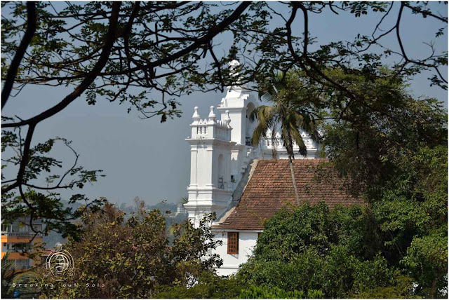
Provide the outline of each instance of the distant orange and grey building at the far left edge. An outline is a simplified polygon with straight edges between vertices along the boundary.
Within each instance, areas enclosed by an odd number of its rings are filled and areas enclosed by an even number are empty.
[[[35,231],[42,231],[42,221],[35,220],[32,226]],[[14,261],[16,270],[34,266],[34,261],[28,257],[28,253],[33,251],[34,246],[42,243],[42,234],[32,231],[29,218],[16,219],[11,223],[1,222],[1,259],[4,259],[8,252],[8,260]]]

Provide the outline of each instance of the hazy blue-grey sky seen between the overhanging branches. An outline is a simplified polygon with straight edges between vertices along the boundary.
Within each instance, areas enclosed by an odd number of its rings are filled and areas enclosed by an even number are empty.
[[[285,8],[274,3],[272,5],[286,12]],[[447,6],[432,5],[439,7],[441,15],[447,16]],[[310,15],[309,31],[317,37],[318,43],[349,41],[357,33],[371,34],[378,16],[368,13],[367,16],[354,18],[349,14],[337,16],[326,11],[321,15]],[[387,20],[386,24],[394,22],[393,18]],[[273,26],[281,25],[279,20],[273,21]],[[296,32],[302,32],[301,18],[297,18],[293,25]],[[423,20],[418,15],[403,16],[401,34],[410,57],[422,57],[429,52],[422,42],[434,39],[438,25],[440,23],[431,18]],[[229,35],[219,38],[214,43],[222,43],[220,47],[229,48],[232,43]],[[438,51],[447,51],[447,39],[446,28],[445,36],[436,43]],[[386,39],[385,43],[398,48],[394,39]],[[447,70],[444,73],[447,74]],[[411,92],[417,97],[436,97],[447,104],[447,92],[438,87],[429,87],[427,77],[428,74],[417,76],[411,82]],[[71,88],[28,86],[8,101],[2,114],[27,118],[59,102],[70,91]],[[95,106],[89,106],[82,96],[64,111],[39,123],[33,144],[50,137],[65,137],[73,141],[72,146],[81,155],[81,165],[88,170],[105,170],[105,178],[81,191],[90,198],[104,196],[113,203],[132,203],[133,198],[139,196],[147,203],[157,203],[163,199],[177,202],[187,196],[190,161],[189,145],[185,138],[190,135],[193,107],[199,106],[201,117],[205,118],[208,107],[216,107],[224,96],[225,93],[194,93],[182,97],[179,101],[184,114],[166,123],[159,123],[159,118],[141,120],[137,113],[127,114],[127,107],[109,103],[105,99],[98,99]],[[53,152],[53,156],[72,163],[73,157],[68,154],[61,147],[56,147]]]

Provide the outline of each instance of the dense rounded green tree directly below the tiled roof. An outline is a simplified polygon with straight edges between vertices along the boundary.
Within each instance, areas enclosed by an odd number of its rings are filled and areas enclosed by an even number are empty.
[[[369,220],[366,207],[329,210],[321,203],[282,210],[267,221],[238,277],[287,292],[321,290],[326,298],[391,285],[398,271],[364,251],[373,238]]]

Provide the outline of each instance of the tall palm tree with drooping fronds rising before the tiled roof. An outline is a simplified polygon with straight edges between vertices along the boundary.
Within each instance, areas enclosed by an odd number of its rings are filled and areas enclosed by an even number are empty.
[[[293,170],[293,142],[299,147],[299,153],[307,156],[307,147],[304,145],[300,130],[307,132],[314,141],[318,140],[316,123],[310,108],[316,101],[308,97],[297,73],[276,74],[272,82],[266,88],[261,88],[259,95],[261,100],[272,102],[272,106],[262,105],[251,114],[250,119],[259,121],[253,132],[253,146],[260,144],[267,138],[267,131],[272,132],[272,144],[279,144],[279,140],[287,150],[290,162],[293,188],[297,205],[300,204],[300,196],[297,191],[295,172]],[[280,134],[280,138],[276,137]],[[276,158],[276,149],[273,147],[273,158]]]

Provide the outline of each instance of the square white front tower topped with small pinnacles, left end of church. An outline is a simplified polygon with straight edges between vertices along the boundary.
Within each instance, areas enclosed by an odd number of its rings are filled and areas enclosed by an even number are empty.
[[[198,107],[194,108],[192,136],[186,139],[191,155],[189,201],[184,206],[195,226],[206,213],[225,212],[232,200],[230,161],[236,143],[231,140],[231,118],[225,111],[222,121],[217,121],[213,109],[208,119],[201,120]]]

